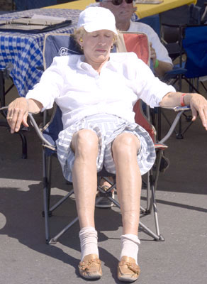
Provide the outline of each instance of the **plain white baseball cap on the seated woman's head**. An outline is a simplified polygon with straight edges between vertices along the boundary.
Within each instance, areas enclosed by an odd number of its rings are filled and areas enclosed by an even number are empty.
[[[89,7],[79,14],[77,28],[84,29],[91,33],[93,31],[108,30],[118,34],[116,31],[116,21],[113,13],[102,7]]]

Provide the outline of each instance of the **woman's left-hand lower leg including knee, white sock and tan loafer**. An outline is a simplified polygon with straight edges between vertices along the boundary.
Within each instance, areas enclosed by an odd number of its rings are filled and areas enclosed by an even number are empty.
[[[94,131],[82,129],[72,137],[72,150],[75,154],[72,182],[81,228],[79,239],[82,258],[79,273],[87,279],[97,279],[102,275],[98,236],[94,224],[98,146],[99,139]]]

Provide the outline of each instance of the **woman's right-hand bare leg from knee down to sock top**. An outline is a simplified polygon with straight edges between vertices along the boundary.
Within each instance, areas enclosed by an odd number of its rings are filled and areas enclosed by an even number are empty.
[[[141,175],[137,161],[140,141],[131,133],[122,133],[113,141],[116,185],[121,205],[123,234],[138,235],[140,219]]]

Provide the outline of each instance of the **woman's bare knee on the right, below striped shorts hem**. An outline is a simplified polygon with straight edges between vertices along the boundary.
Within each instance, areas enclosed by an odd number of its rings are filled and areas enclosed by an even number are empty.
[[[133,133],[121,133],[113,141],[113,155],[137,155],[140,141]]]

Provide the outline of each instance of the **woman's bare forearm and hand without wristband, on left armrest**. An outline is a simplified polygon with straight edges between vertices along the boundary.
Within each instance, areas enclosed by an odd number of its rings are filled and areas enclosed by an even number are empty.
[[[7,121],[11,128],[11,133],[17,132],[21,124],[28,127],[28,112],[38,113],[43,105],[35,99],[18,98],[9,104]]]

